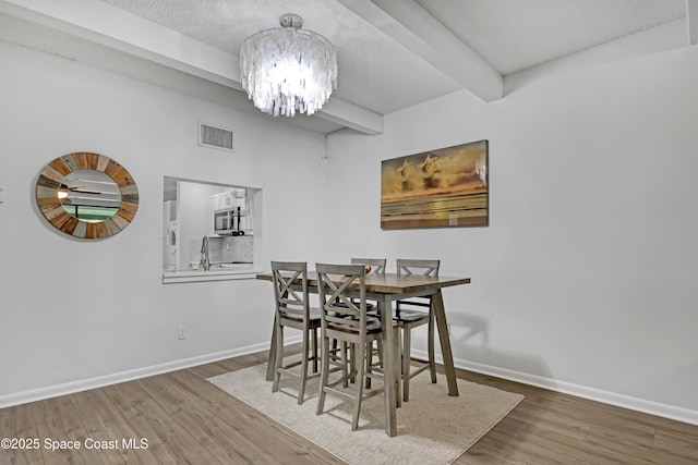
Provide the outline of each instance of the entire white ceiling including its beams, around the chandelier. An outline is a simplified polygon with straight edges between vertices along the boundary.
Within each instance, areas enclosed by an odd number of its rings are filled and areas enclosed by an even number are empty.
[[[686,22],[688,46],[697,2],[0,0],[0,40],[258,113],[240,90],[240,46],[296,13],[337,48],[338,85],[316,115],[277,119],[375,134],[384,114],[461,89],[494,101],[513,73],[667,23]]]

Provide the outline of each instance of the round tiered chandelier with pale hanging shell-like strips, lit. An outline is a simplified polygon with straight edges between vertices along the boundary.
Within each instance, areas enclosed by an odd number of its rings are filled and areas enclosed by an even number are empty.
[[[337,51],[323,36],[301,29],[300,16],[285,14],[280,23],[242,44],[242,88],[267,114],[313,114],[337,88]]]

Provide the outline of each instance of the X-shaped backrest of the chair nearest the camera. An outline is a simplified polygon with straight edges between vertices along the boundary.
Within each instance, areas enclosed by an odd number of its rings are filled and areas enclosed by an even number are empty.
[[[315,264],[324,338],[346,340],[347,333],[366,332],[366,270],[359,265]],[[359,285],[359,298],[348,295]]]

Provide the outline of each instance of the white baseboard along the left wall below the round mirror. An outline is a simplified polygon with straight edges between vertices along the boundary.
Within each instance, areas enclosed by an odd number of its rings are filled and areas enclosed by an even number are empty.
[[[299,339],[300,340],[300,339]],[[293,342],[289,338],[289,342]],[[230,351],[216,352],[213,354],[201,355],[197,357],[184,358],[181,360],[168,362],[166,364],[154,365],[149,367],[136,368],[134,370],[121,371],[112,375],[105,375],[96,378],[71,381],[62,384],[49,386],[40,389],[17,392],[14,394],[0,395],[0,408],[11,407],[13,405],[26,404],[45,399],[57,397],[59,395],[73,394],[75,392],[87,391],[89,389],[103,388],[105,386],[117,384],[119,382],[132,381],[134,379],[147,378],[149,376],[161,375],[169,371],[176,371],[184,368],[191,368],[198,365],[209,364],[212,362],[224,360],[226,358],[239,357],[241,355],[253,354],[266,351],[269,343],[249,345],[246,347],[233,348]]]

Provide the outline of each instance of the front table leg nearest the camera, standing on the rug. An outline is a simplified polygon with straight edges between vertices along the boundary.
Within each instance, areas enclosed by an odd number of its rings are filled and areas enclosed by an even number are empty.
[[[397,436],[396,409],[396,379],[399,376],[399,354],[395,350],[395,336],[393,334],[393,305],[388,295],[378,299],[378,313],[383,326],[383,376],[384,376],[384,402],[385,402],[385,432],[389,437]]]

